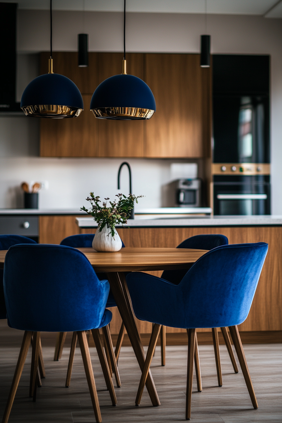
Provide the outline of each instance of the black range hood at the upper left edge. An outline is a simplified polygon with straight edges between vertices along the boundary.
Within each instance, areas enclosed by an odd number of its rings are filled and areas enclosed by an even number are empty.
[[[0,113],[22,112],[16,102],[17,3],[0,3]]]

